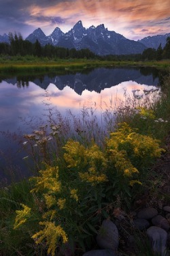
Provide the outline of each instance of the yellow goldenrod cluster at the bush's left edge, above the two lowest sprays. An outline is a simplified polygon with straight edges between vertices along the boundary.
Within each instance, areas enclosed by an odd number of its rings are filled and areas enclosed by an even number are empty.
[[[48,189],[48,193],[57,193],[61,190],[61,182],[58,181],[58,167],[47,167],[43,171],[39,171],[38,177],[31,177],[30,180],[35,181],[35,188],[31,192]]]

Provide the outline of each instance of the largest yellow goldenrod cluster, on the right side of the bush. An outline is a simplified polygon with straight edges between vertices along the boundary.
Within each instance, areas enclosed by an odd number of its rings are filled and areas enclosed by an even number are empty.
[[[126,123],[122,123],[116,132],[111,133],[111,138],[107,139],[107,150],[114,167],[126,177],[132,177],[133,173],[139,173],[131,163],[132,158],[160,157],[161,152],[164,151],[159,147],[158,140],[137,133],[136,129],[133,130]]]

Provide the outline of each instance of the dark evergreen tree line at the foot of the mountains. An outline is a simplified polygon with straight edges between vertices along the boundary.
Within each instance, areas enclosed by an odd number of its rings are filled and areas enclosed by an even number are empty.
[[[75,48],[64,48],[53,46],[52,44],[46,44],[41,46],[38,40],[35,43],[29,42],[28,40],[23,40],[20,33],[9,33],[10,43],[1,42],[0,43],[0,55],[10,55],[10,56],[25,56],[32,55],[36,57],[49,57],[49,58],[59,58],[59,59],[100,59],[100,60],[161,60],[170,59],[170,38],[167,38],[167,43],[165,47],[162,48],[161,44],[158,46],[157,50],[154,48],[147,48],[142,54],[132,54],[132,55],[106,55],[99,56],[92,53],[88,48],[81,49],[79,51]]]

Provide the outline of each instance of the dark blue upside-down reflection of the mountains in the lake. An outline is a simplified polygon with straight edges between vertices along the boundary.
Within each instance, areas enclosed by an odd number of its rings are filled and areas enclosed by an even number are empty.
[[[86,71],[86,72],[85,72]],[[135,81],[140,84],[158,85],[158,70],[154,68],[96,68],[84,70],[84,72],[69,72],[66,74],[51,73],[48,75],[16,76],[3,79],[7,83],[16,85],[18,88],[29,87],[33,82],[42,89],[47,89],[50,83],[60,90],[66,86],[72,88],[76,94],[82,95],[86,89],[101,93],[105,88],[118,85],[124,81]]]

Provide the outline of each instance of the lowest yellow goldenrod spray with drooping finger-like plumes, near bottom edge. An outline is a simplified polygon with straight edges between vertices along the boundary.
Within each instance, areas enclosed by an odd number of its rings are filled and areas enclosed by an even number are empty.
[[[49,221],[41,222],[39,225],[44,225],[45,227],[41,231],[35,233],[32,238],[35,239],[36,244],[41,243],[45,239],[46,244],[48,245],[48,254],[54,256],[59,240],[62,238],[63,243],[67,242],[67,234],[61,225],[56,226],[55,223]]]

